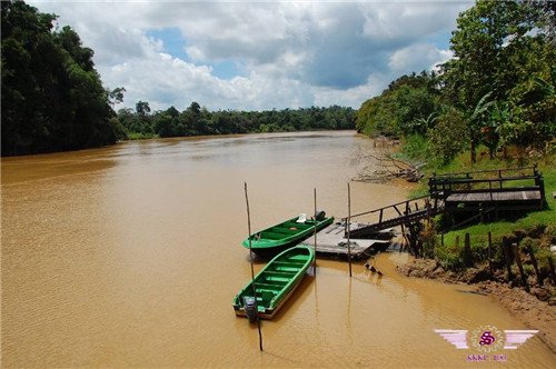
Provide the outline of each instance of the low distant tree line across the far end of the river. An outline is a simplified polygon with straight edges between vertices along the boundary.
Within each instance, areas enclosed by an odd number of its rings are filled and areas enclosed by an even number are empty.
[[[290,132],[304,130],[354,129],[355,110],[332,106],[267,111],[208,111],[198,102],[179,111],[175,107],[151,113],[148,102],[139,101],[136,110],[120,109],[112,123],[120,139],[183,137],[251,132]]]

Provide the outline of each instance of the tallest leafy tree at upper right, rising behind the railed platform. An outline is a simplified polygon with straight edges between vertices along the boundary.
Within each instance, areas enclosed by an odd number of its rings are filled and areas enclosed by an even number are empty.
[[[488,132],[483,138],[493,154],[497,140],[487,110],[494,101],[507,110],[497,118],[503,142],[543,146],[554,137],[554,101],[535,84],[548,77],[556,58],[547,37],[554,30],[548,13],[554,13],[553,6],[533,1],[479,0],[458,17],[450,40],[455,58],[443,66],[440,80],[443,96],[468,117],[471,161],[479,132]],[[490,102],[484,100],[487,94]]]

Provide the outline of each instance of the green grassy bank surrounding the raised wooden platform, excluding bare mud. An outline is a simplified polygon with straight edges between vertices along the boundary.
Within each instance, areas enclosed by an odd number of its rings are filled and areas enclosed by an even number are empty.
[[[400,157],[406,160],[421,161],[425,158],[430,158],[427,154],[426,142],[419,138],[409,138],[405,142],[400,152]],[[524,215],[518,219],[500,220],[489,223],[476,223],[469,227],[457,230],[443,230],[438,226],[441,223],[440,217],[437,217],[434,225],[434,230],[426,232],[424,239],[425,247],[434,248],[435,259],[446,270],[465,269],[464,260],[464,238],[469,233],[471,251],[475,265],[487,260],[488,233],[492,235],[494,246],[495,263],[502,266],[504,256],[502,251],[503,237],[509,238],[513,242],[517,242],[522,250],[526,245],[530,245],[539,261],[544,272],[549,272],[547,258],[550,255],[550,245],[556,245],[556,199],[553,193],[556,192],[556,154],[547,154],[544,157],[517,157],[515,153],[505,159],[502,153],[494,159],[489,159],[488,150],[479,148],[477,151],[477,162],[470,162],[469,152],[458,154],[453,161],[446,164],[430,160],[424,167],[425,177],[420,181],[419,187],[413,191],[411,197],[418,197],[428,193],[427,179],[435,173],[461,172],[461,171],[478,171],[478,170],[495,170],[500,168],[516,168],[523,166],[537,164],[545,181],[545,193],[548,207],[543,211],[535,211]],[[440,233],[444,233],[444,245],[440,242]],[[527,260],[529,257],[527,256]],[[526,265],[526,271],[530,271],[532,267]]]

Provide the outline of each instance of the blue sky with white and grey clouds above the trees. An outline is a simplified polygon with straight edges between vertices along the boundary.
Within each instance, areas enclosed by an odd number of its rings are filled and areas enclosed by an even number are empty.
[[[470,1],[28,1],[70,26],[117,109],[358,109],[453,57]]]

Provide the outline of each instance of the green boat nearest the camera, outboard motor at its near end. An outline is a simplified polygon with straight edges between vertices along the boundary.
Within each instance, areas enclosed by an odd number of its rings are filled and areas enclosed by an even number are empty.
[[[234,298],[237,316],[255,321],[271,319],[304,279],[315,260],[315,251],[307,246],[297,246],[277,255]],[[254,293],[255,292],[255,293]]]

